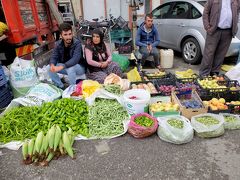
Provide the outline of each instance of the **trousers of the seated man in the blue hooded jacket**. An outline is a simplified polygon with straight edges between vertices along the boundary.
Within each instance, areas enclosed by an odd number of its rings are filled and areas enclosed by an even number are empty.
[[[145,61],[149,56],[153,56],[155,67],[160,65],[159,50],[156,47],[153,47],[150,53],[147,47],[140,47],[139,52],[142,54],[142,60],[141,60],[142,66],[145,64]]]

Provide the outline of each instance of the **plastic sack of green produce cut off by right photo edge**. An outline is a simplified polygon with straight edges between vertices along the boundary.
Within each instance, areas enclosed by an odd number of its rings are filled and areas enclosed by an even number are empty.
[[[229,113],[220,113],[224,118],[224,129],[240,129],[240,117]]]

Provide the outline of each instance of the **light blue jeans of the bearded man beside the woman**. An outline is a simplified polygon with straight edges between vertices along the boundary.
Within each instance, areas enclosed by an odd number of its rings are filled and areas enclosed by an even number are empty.
[[[61,63],[58,63],[56,66],[61,66],[63,64]],[[77,75],[82,75],[85,73],[85,68],[79,64],[76,64],[72,67],[69,67],[69,68],[66,68],[66,69],[63,69],[57,73],[60,73],[60,74],[66,74],[68,75],[68,79],[69,79],[69,82],[70,82],[70,85],[74,85],[76,84],[76,80],[77,80]],[[60,79],[60,77],[58,76],[57,73],[54,73],[54,72],[51,72],[50,71],[50,66],[48,66],[48,74],[49,74],[49,77],[52,79],[53,83],[59,87],[59,88],[63,88],[63,83]]]

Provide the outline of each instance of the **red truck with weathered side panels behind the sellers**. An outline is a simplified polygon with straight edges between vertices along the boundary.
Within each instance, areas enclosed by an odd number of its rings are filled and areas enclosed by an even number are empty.
[[[52,3],[57,9],[57,0]],[[15,48],[17,56],[32,58],[52,49],[58,23],[46,0],[1,0],[1,10],[0,21],[5,21],[9,29],[5,43]]]

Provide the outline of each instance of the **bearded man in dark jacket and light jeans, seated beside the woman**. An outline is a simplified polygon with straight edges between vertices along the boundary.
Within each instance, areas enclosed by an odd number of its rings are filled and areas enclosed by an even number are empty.
[[[61,40],[56,42],[53,49],[48,74],[56,86],[63,88],[64,85],[57,73],[68,75],[69,82],[73,85],[76,84],[77,75],[85,73],[85,67],[82,45],[78,39],[73,38],[72,26],[62,23],[59,31]]]

